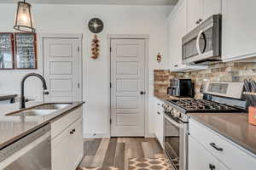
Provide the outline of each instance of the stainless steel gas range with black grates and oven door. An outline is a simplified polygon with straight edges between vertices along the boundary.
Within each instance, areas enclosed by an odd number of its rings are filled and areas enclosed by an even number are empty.
[[[181,98],[167,100],[163,105],[164,146],[166,155],[176,170],[186,170],[188,164],[188,113],[241,112],[246,101],[241,100],[243,83],[207,82],[203,99]]]

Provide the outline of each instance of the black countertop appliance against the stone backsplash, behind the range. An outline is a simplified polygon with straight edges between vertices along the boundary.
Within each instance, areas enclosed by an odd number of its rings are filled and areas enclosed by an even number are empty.
[[[191,79],[171,79],[167,94],[177,97],[194,97],[194,84]]]

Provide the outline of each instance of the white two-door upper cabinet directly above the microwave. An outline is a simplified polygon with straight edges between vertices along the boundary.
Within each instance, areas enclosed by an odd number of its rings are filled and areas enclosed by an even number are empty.
[[[193,30],[212,14],[221,13],[221,0],[188,0],[188,31]]]

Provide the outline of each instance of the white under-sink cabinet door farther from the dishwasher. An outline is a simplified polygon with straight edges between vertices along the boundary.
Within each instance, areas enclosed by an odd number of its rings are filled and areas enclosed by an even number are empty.
[[[71,129],[69,148],[70,154],[69,159],[72,169],[78,167],[79,162],[84,156],[84,144],[83,144],[83,134],[82,134],[82,118],[73,123],[73,128]]]

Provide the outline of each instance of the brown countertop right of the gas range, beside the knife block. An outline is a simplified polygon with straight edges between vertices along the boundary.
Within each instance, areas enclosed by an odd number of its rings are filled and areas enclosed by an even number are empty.
[[[256,155],[256,126],[248,123],[246,113],[189,113],[189,116]]]

